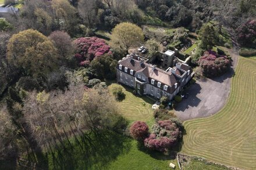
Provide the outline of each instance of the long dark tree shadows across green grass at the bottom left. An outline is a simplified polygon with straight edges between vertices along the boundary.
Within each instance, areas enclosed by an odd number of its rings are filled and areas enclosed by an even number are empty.
[[[93,140],[74,140],[66,149],[55,148],[54,157],[49,153],[51,169],[104,169],[118,155],[129,152],[131,139],[115,132],[105,131],[90,137]],[[80,145],[80,146],[79,146]]]

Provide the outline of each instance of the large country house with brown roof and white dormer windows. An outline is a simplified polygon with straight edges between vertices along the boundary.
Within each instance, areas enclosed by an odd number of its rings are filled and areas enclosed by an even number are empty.
[[[147,63],[137,55],[128,55],[116,66],[118,82],[136,89],[140,95],[150,95],[157,99],[162,96],[172,100],[193,75],[190,66],[177,63],[167,70]]]

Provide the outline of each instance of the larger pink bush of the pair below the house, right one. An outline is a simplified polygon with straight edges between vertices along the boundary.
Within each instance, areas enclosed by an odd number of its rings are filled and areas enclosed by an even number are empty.
[[[158,121],[153,126],[153,133],[144,140],[144,145],[148,149],[167,151],[170,147],[175,146],[180,138],[182,131],[171,120]]]

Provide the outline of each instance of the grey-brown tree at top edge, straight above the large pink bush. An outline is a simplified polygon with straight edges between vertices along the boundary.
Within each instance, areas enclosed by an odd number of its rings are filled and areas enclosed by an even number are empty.
[[[95,0],[80,0],[78,11],[86,26],[93,28],[97,24],[98,8]]]

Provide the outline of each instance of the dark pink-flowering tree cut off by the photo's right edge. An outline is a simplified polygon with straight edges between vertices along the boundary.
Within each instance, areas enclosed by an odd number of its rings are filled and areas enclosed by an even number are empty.
[[[256,47],[256,20],[248,20],[237,28],[237,40],[241,45]]]

